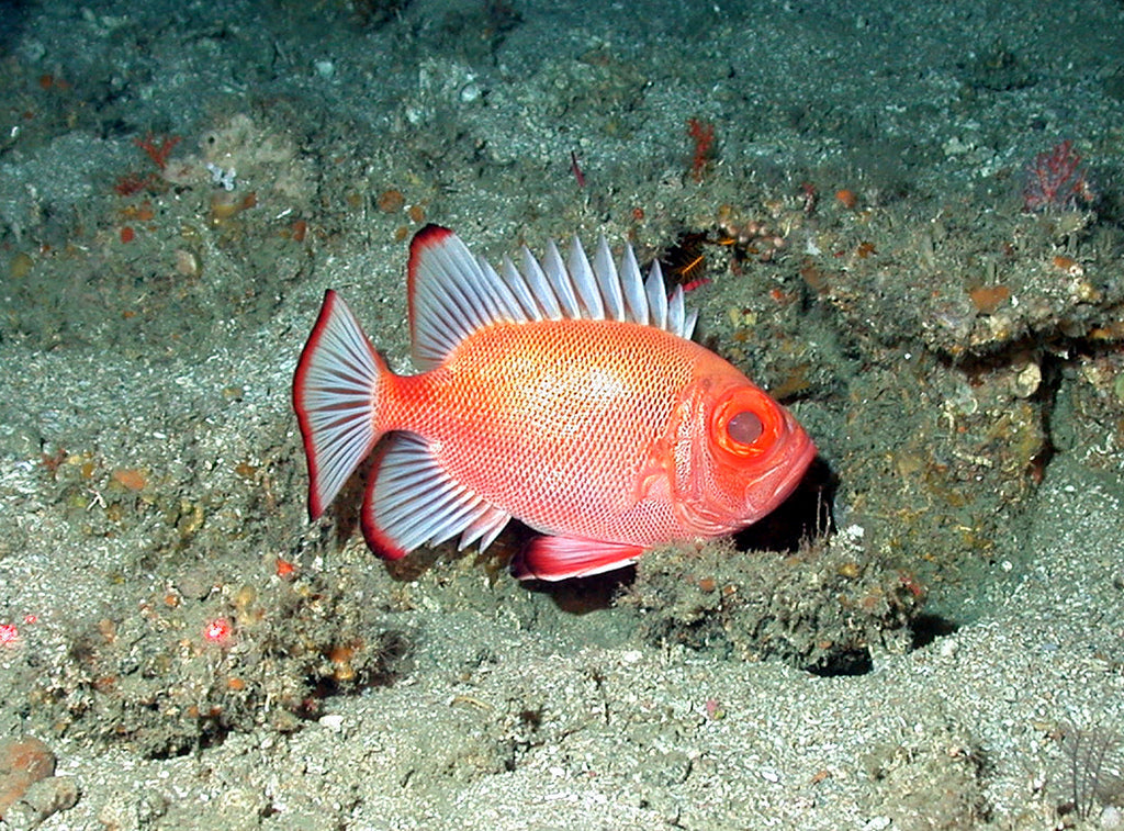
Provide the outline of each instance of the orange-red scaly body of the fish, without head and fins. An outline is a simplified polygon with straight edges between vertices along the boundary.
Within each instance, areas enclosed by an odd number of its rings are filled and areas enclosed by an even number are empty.
[[[662,335],[663,350],[650,343],[653,335]],[[685,354],[674,361],[678,371],[654,374],[619,360],[629,345],[665,352],[661,364],[669,368],[667,359]],[[438,443],[435,455],[451,476],[534,529],[662,542],[674,531],[667,511],[651,511],[647,523],[634,511],[636,524],[627,527],[617,517],[628,511],[646,448],[668,421],[671,390],[689,377],[692,346],[628,323],[491,327],[451,353],[450,371],[424,394],[404,390],[408,412],[387,426]],[[579,385],[583,395],[574,399]],[[477,430],[480,421],[487,430]]]

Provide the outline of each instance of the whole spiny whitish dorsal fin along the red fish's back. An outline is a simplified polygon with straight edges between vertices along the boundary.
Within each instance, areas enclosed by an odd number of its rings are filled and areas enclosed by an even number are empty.
[[[577,237],[565,260],[553,243],[542,262],[526,246],[520,260],[516,267],[505,259],[497,273],[448,228],[427,225],[414,236],[409,307],[418,369],[433,369],[462,340],[500,320],[624,320],[680,337],[690,337],[695,328],[682,289],[668,298],[658,262],[644,280],[629,245],[617,263],[604,235],[592,261]]]

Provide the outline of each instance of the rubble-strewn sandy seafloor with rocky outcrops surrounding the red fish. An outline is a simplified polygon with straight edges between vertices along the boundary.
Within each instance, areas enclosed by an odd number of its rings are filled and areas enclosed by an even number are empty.
[[[0,15],[0,827],[1124,825],[1118,0]],[[426,222],[705,254],[833,524],[534,587],[308,523],[319,298],[408,371]]]

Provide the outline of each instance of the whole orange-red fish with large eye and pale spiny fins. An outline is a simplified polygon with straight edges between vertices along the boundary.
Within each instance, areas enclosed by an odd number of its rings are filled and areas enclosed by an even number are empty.
[[[382,440],[363,500],[370,548],[397,559],[509,520],[542,532],[513,563],[561,580],[674,540],[728,534],[792,491],[816,449],[792,415],[688,340],[682,291],[602,236],[587,258],[523,249],[499,272],[447,228],[410,243],[420,374],[397,376],[329,290],[293,380],[315,520]]]

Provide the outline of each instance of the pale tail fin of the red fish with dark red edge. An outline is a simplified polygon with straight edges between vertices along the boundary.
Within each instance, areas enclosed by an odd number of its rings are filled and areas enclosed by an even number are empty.
[[[379,441],[379,378],[384,372],[387,364],[355,315],[329,289],[292,381],[292,406],[308,458],[308,514],[314,520]]]

